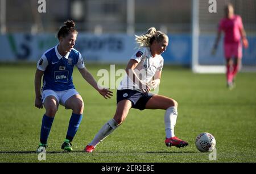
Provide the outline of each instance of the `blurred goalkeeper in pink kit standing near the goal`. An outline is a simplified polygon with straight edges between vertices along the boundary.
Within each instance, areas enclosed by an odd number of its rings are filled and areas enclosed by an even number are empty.
[[[242,60],[242,44],[248,47],[246,33],[243,29],[242,18],[240,15],[234,14],[234,7],[228,4],[225,7],[225,18],[220,20],[218,26],[218,34],[212,53],[216,52],[218,42],[221,38],[221,31],[224,31],[224,52],[226,58],[226,80],[228,88],[234,87],[234,78],[240,69]],[[241,43],[242,40],[242,43]],[[234,59],[233,59],[234,58]]]

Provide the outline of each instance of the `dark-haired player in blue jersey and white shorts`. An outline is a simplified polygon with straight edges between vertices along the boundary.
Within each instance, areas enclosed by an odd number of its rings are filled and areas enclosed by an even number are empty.
[[[48,49],[38,61],[35,73],[35,106],[43,108],[44,105],[46,113],[43,115],[40,144],[36,152],[42,152],[43,148],[47,147],[48,135],[59,104],[65,106],[66,109],[72,109],[67,136],[61,146],[65,151],[72,151],[71,142],[79,129],[84,110],[82,97],[76,91],[72,81],[75,65],[82,77],[104,98],[112,96],[110,90],[98,86],[92,74],[85,68],[81,53],[73,48],[77,34],[75,22],[72,20],[65,22],[65,26],[61,27],[57,34],[59,44]]]

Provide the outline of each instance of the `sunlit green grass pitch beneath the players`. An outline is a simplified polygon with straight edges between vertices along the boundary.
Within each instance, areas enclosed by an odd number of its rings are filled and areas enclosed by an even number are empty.
[[[98,79],[99,69],[110,65],[87,65]],[[115,69],[125,68],[119,65]],[[178,103],[175,135],[187,140],[185,148],[164,144],[164,111],[131,109],[126,121],[99,144],[92,154],[83,152],[87,143],[115,113],[115,92],[105,100],[77,69],[73,82],[85,107],[73,152],[60,146],[65,138],[71,110],[59,107],[48,139],[45,161],[39,161],[40,126],[44,109],[34,106],[36,65],[0,65],[0,162],[256,162],[256,73],[239,73],[236,88],[228,90],[225,74],[193,74],[189,69],[165,66],[159,94]],[[201,132],[216,138],[217,160],[195,147]]]

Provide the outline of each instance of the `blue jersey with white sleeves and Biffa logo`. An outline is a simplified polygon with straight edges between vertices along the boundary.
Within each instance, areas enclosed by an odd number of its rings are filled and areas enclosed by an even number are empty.
[[[71,49],[65,56],[57,51],[57,45],[48,49],[38,61],[37,68],[44,71],[42,90],[63,91],[75,89],[72,80],[73,68],[84,68],[81,53]]]

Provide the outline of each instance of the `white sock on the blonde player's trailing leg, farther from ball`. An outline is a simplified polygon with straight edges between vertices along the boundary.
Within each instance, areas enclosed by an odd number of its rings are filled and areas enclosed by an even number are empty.
[[[106,124],[98,131],[98,134],[95,135],[92,142],[88,145],[96,147],[98,143],[102,142],[107,136],[109,136],[115,129],[117,129],[119,125],[115,122],[114,119],[110,119],[110,121],[106,122]]]

